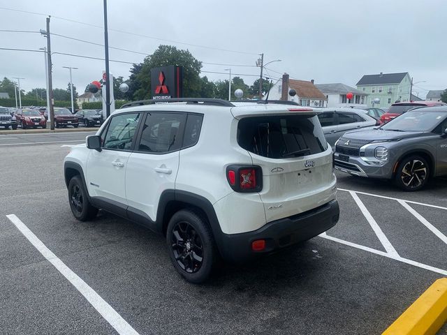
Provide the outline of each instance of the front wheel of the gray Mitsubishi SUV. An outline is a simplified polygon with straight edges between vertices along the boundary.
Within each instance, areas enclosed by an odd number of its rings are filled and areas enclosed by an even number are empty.
[[[419,191],[430,179],[430,165],[425,158],[412,155],[404,158],[397,167],[395,184],[407,192]]]

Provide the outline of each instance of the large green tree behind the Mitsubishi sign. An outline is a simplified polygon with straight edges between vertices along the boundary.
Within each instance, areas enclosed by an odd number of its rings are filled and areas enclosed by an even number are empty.
[[[202,62],[194,58],[188,50],[179,50],[172,45],[160,45],[140,65],[140,67],[134,66],[131,70],[135,78],[133,82],[131,80],[133,100],[152,98],[151,69],[168,65],[178,65],[183,68],[183,96],[191,97],[200,94],[199,74]]]

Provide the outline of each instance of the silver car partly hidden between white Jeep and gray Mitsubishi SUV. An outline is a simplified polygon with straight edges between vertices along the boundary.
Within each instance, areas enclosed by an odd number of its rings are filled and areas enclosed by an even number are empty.
[[[321,108],[318,110],[320,124],[323,127],[326,141],[331,147],[346,131],[353,131],[358,128],[376,126],[376,119],[365,113],[365,110],[356,108],[337,107]]]

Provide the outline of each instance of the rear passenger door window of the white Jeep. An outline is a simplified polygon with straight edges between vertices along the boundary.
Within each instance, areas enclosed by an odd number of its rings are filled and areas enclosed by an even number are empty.
[[[180,149],[186,114],[148,113],[136,150],[166,153]]]

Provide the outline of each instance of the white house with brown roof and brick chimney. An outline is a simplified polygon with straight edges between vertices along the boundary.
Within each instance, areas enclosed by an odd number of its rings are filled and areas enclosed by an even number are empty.
[[[294,89],[295,96],[290,96],[288,92]],[[328,99],[314,85],[314,80],[290,79],[287,73],[284,73],[282,80],[277,82],[270,89],[269,100],[295,101],[302,106],[326,107]],[[265,96],[264,96],[265,99]]]

